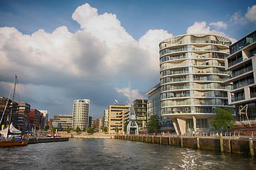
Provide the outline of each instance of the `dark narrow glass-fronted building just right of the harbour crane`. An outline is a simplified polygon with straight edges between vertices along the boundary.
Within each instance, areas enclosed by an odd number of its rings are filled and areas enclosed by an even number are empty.
[[[139,126],[139,130],[146,129],[147,102],[147,99],[137,99],[134,101],[134,112],[136,115],[136,122]]]

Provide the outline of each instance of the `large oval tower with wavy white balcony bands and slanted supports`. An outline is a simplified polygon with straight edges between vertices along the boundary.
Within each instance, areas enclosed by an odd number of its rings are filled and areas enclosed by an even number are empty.
[[[177,134],[207,130],[215,108],[228,106],[225,57],[231,41],[220,35],[178,35],[160,42],[161,115]]]

